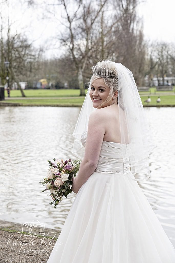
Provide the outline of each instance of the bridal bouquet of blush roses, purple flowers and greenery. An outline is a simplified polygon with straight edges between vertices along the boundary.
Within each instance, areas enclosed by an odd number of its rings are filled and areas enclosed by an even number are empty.
[[[61,202],[62,197],[72,192],[70,186],[72,185],[72,178],[76,177],[79,171],[81,161],[79,159],[72,161],[71,159],[59,160],[54,159],[54,162],[47,161],[50,168],[47,172],[47,178],[43,178],[40,183],[46,186],[42,192],[50,190],[49,196],[52,197],[52,205],[55,201],[54,208]]]

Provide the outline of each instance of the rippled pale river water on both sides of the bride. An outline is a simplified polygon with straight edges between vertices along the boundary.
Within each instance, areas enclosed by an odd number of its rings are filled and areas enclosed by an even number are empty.
[[[24,223],[38,219],[62,229],[75,198],[71,193],[57,209],[39,181],[47,160],[72,158],[72,133],[80,108],[0,107],[1,219]],[[175,108],[145,108],[156,148],[150,154],[151,178],[139,182],[175,246]]]

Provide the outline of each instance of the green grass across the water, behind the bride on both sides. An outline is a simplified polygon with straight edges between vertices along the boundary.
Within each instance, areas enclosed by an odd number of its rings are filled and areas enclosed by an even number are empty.
[[[59,89],[59,90],[25,90],[26,97],[21,97],[19,90],[12,90],[10,98],[6,97],[3,103],[13,103],[13,105],[20,106],[66,106],[66,107],[81,107],[84,101],[84,96],[79,96],[79,90],[75,89]],[[86,90],[87,92],[87,90]],[[158,92],[158,94],[151,94],[151,103],[144,102],[147,99],[149,92],[140,92],[141,101],[144,106],[175,106],[175,93],[172,91]],[[157,103],[158,95],[161,102]],[[5,105],[5,104],[4,104]],[[12,105],[12,104],[11,104]]]

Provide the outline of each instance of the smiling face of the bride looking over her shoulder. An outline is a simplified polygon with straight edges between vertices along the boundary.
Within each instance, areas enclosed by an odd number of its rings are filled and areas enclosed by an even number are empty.
[[[89,93],[93,107],[97,108],[100,104],[102,104],[102,102],[107,99],[109,92],[110,88],[105,85],[102,78],[94,80],[94,82],[91,84],[91,90]],[[112,101],[113,100],[111,99],[108,103],[102,105],[102,108],[111,105]]]

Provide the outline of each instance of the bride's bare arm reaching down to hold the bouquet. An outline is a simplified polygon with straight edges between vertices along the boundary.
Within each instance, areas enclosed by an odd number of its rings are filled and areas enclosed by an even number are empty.
[[[75,193],[78,192],[97,167],[104,134],[104,115],[100,110],[95,110],[89,117],[84,158],[80,164],[77,177],[73,179],[72,189]]]

